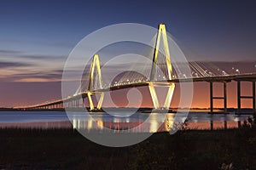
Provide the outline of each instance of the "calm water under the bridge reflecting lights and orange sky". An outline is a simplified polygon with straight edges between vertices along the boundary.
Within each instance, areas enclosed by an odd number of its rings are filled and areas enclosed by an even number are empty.
[[[124,112],[125,115],[125,112]],[[139,132],[169,131],[173,127],[175,114],[169,113],[162,122],[162,115],[137,112],[131,117],[114,117],[102,113],[94,113],[86,116],[84,113],[73,113],[67,117],[65,112],[56,111],[6,111],[0,112],[0,127],[24,127],[24,128],[85,128],[103,129],[103,127],[122,130],[137,127],[145,122],[145,127]],[[148,118],[148,120],[147,120]],[[189,113],[187,118],[190,129],[218,129],[239,127],[248,116],[209,115],[206,112]],[[72,123],[71,123],[72,122]]]

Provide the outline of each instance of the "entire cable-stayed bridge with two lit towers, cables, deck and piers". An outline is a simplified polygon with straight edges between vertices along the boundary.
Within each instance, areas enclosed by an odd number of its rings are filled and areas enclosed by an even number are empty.
[[[163,45],[161,46],[161,43]],[[210,83],[210,112],[213,113],[213,101],[215,99],[221,99],[224,102],[224,113],[227,113],[227,83],[231,81],[237,82],[237,112],[241,112],[241,99],[253,100],[253,113],[256,113],[256,98],[255,98],[255,82],[256,74],[241,74],[238,69],[235,69],[235,73],[229,74],[228,72],[218,68],[216,65],[210,63],[196,62],[193,60],[188,63],[172,62],[172,52],[170,53],[166,26],[160,24],[158,33],[156,35],[156,41],[154,43],[154,49],[152,49],[153,58],[150,65],[140,65],[140,70],[143,74],[137,71],[124,71],[119,74],[114,80],[106,80],[106,77],[102,76],[102,65],[100,63],[100,57],[98,54],[93,56],[90,69],[85,73],[86,78],[81,82],[81,86],[73,96],[68,96],[64,99],[58,99],[48,103],[30,105],[24,107],[18,107],[17,109],[31,110],[31,109],[56,109],[56,108],[77,108],[79,107],[79,99],[82,99],[82,106],[84,105],[84,99],[88,99],[90,105],[90,111],[101,111],[102,102],[104,100],[104,93],[108,91],[115,91],[125,88],[137,88],[148,87],[154,109],[168,110],[172,100],[172,95],[177,83],[185,82],[209,82]],[[189,73],[184,73],[179,68],[189,65]],[[105,79],[104,79],[105,78]],[[112,82],[109,82],[112,81]],[[223,83],[224,90],[222,97],[213,96],[213,83]],[[252,95],[241,95],[241,82],[252,82]],[[168,91],[166,93],[166,99],[164,104],[161,105],[158,99],[155,88],[166,87]],[[97,105],[94,105],[92,96],[100,95],[100,99]]]

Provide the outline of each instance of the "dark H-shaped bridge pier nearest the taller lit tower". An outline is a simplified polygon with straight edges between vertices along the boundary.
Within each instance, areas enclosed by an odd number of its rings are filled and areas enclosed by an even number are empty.
[[[210,82],[210,113],[213,114],[213,100],[214,99],[223,99],[224,102],[224,111],[223,113],[228,113],[227,110],[227,82],[223,82],[223,97],[214,97],[213,96],[213,82]]]

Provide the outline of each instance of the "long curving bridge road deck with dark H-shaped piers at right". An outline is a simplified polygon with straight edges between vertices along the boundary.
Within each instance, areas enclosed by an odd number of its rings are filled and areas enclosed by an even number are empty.
[[[183,79],[173,79],[173,80],[168,80],[168,81],[162,81],[162,82],[154,82],[156,84],[160,85],[167,85],[168,83],[175,82],[210,82],[210,108],[211,112],[213,112],[213,99],[224,99],[224,103],[226,103],[226,94],[224,92],[224,97],[213,97],[212,93],[212,82],[224,82],[224,91],[226,91],[226,82],[231,82],[231,81],[236,81],[239,82],[237,86],[239,89],[237,89],[237,94],[238,94],[238,110],[241,110],[241,99],[246,98],[246,99],[253,99],[253,112],[255,112],[255,82],[256,82],[256,73],[252,74],[243,74],[243,75],[227,75],[227,76],[219,76],[219,77],[193,77],[193,78],[183,78]],[[241,96],[241,90],[240,90],[240,82],[253,82],[253,96]],[[102,88],[102,89],[97,89],[93,92],[108,92],[108,91],[114,91],[114,90],[119,90],[119,89],[124,89],[124,88],[137,88],[137,87],[143,87],[143,86],[148,86],[149,82],[136,82],[136,83],[131,83],[131,84],[122,84],[118,86],[113,86],[110,88]],[[81,94],[73,95],[71,97],[67,97],[66,99],[58,99],[52,102],[48,103],[43,103],[43,104],[38,104],[38,105],[30,105],[26,107],[17,107],[15,109],[21,109],[21,110],[29,110],[29,109],[36,109],[36,108],[49,108],[51,105],[63,105],[63,103],[68,103],[72,102],[73,100],[76,99],[83,99],[87,98],[87,92],[83,92]],[[224,111],[226,111],[226,104],[224,104]],[[55,107],[54,107],[55,108]]]

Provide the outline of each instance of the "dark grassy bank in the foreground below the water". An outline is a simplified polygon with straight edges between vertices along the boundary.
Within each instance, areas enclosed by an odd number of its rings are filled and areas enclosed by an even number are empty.
[[[256,130],[155,133],[109,148],[73,129],[0,129],[0,169],[256,169]],[[230,168],[231,169],[231,168]]]

